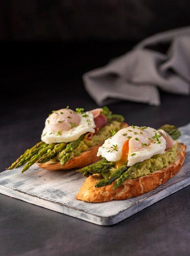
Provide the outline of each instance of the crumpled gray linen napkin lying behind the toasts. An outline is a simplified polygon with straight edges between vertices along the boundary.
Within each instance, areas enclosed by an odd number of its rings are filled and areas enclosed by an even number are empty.
[[[152,49],[169,44],[165,54]],[[118,99],[159,106],[159,90],[190,93],[190,27],[141,41],[130,52],[83,75],[87,92],[99,106]]]

